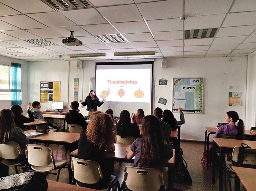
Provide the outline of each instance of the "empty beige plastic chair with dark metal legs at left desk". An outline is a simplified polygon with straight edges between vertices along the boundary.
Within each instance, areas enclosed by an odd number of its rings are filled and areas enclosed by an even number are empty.
[[[43,172],[47,174],[56,174],[59,180],[59,173],[62,168],[68,168],[69,170],[69,181],[70,179],[70,165],[67,160],[55,160],[52,150],[43,145],[28,144],[26,146],[26,158],[30,168],[36,172]],[[66,167],[67,166],[67,167]],[[57,173],[49,172],[51,170],[57,170]],[[29,170],[32,171],[32,170]]]

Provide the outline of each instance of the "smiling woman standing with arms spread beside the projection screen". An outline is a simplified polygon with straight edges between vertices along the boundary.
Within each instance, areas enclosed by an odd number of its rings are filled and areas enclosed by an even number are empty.
[[[91,116],[91,114],[93,114],[93,112],[97,111],[97,107],[100,107],[104,101],[106,99],[103,100],[99,100],[99,98],[97,97],[95,91],[92,89],[89,92],[89,95],[86,97],[85,101],[83,102],[82,100],[79,100],[83,106],[87,105],[86,110],[89,111],[89,116]]]

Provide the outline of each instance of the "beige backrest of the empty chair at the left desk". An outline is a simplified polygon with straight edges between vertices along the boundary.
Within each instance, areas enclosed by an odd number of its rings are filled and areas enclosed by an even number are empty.
[[[47,146],[38,144],[28,144],[26,146],[26,158],[29,164],[38,167],[47,166],[54,162],[52,150]]]

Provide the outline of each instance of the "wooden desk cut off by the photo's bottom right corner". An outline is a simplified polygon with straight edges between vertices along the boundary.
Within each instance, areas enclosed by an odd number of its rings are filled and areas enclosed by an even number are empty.
[[[247,191],[256,190],[256,169],[231,167],[235,174],[235,191],[240,191],[240,181]]]

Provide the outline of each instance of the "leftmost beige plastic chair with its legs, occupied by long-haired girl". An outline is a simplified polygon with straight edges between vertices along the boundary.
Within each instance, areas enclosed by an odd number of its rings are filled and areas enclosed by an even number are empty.
[[[19,147],[19,144],[14,141],[9,141],[7,144],[0,144],[0,158],[1,162],[6,166],[14,166],[16,174],[18,174],[18,167],[22,167],[22,164],[25,164],[23,171],[26,171],[27,162],[26,160],[21,159],[22,150]],[[20,157],[20,160],[17,159]],[[17,159],[17,160],[13,160]]]

